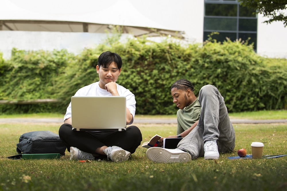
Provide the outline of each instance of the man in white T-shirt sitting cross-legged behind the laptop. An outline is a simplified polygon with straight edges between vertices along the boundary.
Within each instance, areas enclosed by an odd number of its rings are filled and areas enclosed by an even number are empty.
[[[122,60],[118,54],[103,52],[96,66],[100,80],[80,88],[75,96],[126,97],[126,122],[131,125],[135,116],[135,96],[116,83],[121,66]],[[67,146],[71,160],[92,160],[107,156],[114,162],[121,162],[128,160],[142,141],[141,132],[136,126],[129,126],[126,131],[73,131],[71,117],[70,103],[59,136]],[[113,120],[113,116],[110,116],[110,120]]]

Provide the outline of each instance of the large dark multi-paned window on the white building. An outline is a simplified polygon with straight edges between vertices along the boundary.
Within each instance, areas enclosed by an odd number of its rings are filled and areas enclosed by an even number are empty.
[[[226,38],[234,41],[248,40],[257,48],[257,15],[254,10],[239,5],[237,0],[205,0],[204,2],[203,40],[212,38],[223,42]]]

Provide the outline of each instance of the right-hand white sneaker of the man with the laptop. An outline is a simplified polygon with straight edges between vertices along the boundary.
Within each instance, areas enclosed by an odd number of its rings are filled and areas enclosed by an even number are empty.
[[[110,158],[113,162],[122,162],[129,159],[131,153],[122,149],[121,147],[112,146],[103,149],[103,152]]]

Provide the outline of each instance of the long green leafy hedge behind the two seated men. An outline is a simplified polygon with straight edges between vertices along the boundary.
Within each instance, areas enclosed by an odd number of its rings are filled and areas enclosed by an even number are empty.
[[[65,113],[79,88],[98,81],[96,65],[104,51],[121,56],[117,82],[135,94],[137,114],[175,114],[170,86],[180,78],[193,83],[196,95],[203,85],[216,86],[229,112],[287,109],[286,59],[260,57],[240,41],[181,45],[145,38],[120,43],[112,37],[80,55],[15,49],[10,60],[0,55],[0,100],[60,99],[57,104],[0,105],[0,112]]]

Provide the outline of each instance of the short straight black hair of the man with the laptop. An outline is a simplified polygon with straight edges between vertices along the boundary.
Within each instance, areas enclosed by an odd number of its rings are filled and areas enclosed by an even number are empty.
[[[98,66],[103,68],[108,68],[112,62],[117,64],[118,70],[122,67],[122,59],[119,54],[115,52],[106,51],[103,52],[98,58]]]

